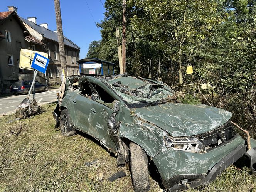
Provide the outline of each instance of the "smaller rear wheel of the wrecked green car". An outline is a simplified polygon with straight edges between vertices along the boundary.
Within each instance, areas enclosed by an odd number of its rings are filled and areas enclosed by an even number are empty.
[[[76,133],[74,126],[71,123],[70,115],[67,109],[61,111],[61,115],[59,118],[59,125],[61,134],[64,136],[71,136]]]

